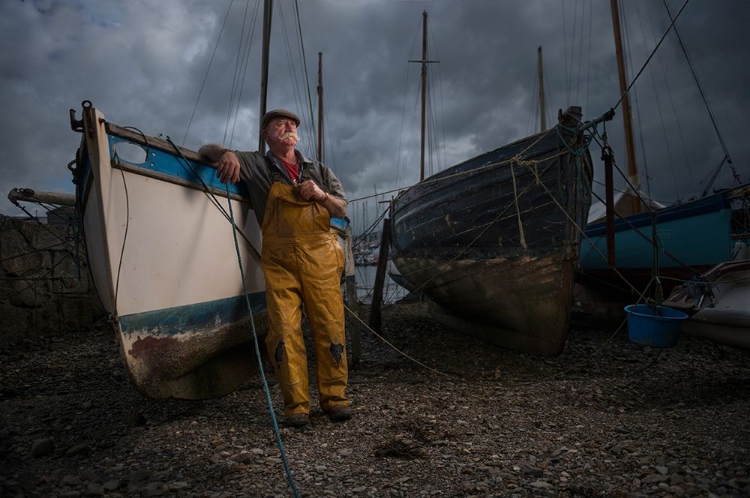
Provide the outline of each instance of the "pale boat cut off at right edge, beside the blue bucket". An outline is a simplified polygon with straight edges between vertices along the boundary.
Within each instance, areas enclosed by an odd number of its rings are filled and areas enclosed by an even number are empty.
[[[664,305],[690,315],[684,332],[750,350],[750,259],[720,263],[684,282]]]

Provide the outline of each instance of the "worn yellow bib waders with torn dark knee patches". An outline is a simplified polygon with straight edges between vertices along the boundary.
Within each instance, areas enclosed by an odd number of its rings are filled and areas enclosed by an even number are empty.
[[[320,407],[348,405],[341,272],[344,252],[325,207],[299,187],[274,182],[263,218],[263,274],[269,331],[266,347],[284,398],[284,414],[310,412],[304,303],[315,344]]]

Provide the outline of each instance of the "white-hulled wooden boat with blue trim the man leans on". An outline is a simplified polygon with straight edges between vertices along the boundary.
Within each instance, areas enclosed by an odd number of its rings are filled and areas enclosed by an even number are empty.
[[[247,192],[227,191],[197,153],[110,123],[90,102],[80,121],[71,111],[71,126],[82,132],[73,171],[91,274],[134,385],[152,398],[233,391],[256,369],[247,303],[259,334],[265,324]]]

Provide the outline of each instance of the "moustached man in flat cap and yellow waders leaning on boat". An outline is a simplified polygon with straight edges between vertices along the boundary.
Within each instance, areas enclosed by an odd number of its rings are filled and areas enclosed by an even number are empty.
[[[287,425],[309,423],[307,352],[302,306],[312,329],[320,407],[334,422],[352,416],[346,397],[348,371],[341,272],[344,253],[330,230],[331,217],[346,216],[346,196],[333,172],[295,150],[300,119],[276,109],[263,116],[260,152],[204,145],[200,153],[217,162],[222,183],[245,182],[263,234],[271,363],[284,399]]]

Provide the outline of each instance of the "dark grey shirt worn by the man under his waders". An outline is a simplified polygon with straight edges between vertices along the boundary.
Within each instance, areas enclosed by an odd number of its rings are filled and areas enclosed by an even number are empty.
[[[339,179],[336,178],[336,175],[333,174],[333,171],[331,171],[331,168],[320,161],[305,157],[298,150],[295,150],[294,152],[297,154],[297,164],[300,168],[300,176],[303,172],[306,172],[310,175],[310,179],[324,192],[346,201],[344,188]],[[279,158],[274,156],[271,151],[268,151],[266,154],[266,157],[269,158],[270,161],[267,161],[263,154],[257,151],[235,151],[235,154],[237,154],[237,158],[240,160],[240,178],[247,186],[248,193],[250,194],[250,202],[253,205],[253,211],[255,211],[255,217],[258,219],[258,224],[262,226],[263,215],[266,211],[266,201],[268,200],[268,192],[271,191],[271,185],[273,184],[273,178],[271,177],[269,167],[276,168],[276,170],[281,173],[281,180],[284,183],[293,185],[294,182],[289,178],[289,174]]]

